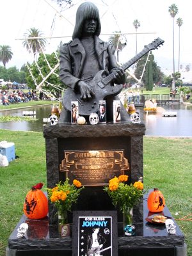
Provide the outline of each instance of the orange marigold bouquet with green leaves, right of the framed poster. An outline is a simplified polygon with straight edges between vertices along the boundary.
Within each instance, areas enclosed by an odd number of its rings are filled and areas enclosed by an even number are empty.
[[[127,175],[114,177],[109,180],[109,186],[104,188],[104,191],[106,191],[112,199],[113,205],[118,205],[122,212],[138,204],[140,198],[143,196],[143,183],[136,181],[134,184],[127,185],[124,183],[127,180]]]

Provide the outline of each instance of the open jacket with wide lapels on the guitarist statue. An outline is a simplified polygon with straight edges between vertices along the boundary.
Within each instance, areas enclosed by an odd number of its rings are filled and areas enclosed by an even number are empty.
[[[117,68],[115,57],[115,48],[112,44],[100,40],[94,36],[95,52],[99,62],[100,70],[106,70],[108,73]],[[86,52],[81,40],[74,40],[64,44],[60,49],[60,79],[68,87],[75,90],[76,84],[81,80]]]

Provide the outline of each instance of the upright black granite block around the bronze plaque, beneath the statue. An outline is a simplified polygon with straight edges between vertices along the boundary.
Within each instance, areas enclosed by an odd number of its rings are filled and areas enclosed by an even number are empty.
[[[46,146],[47,186],[54,188],[60,180],[65,180],[65,174],[60,172],[60,164],[64,152],[76,150],[124,150],[124,157],[129,162],[129,182],[134,183],[143,177],[143,135],[145,124],[121,122],[119,124],[97,125],[46,125],[44,137]],[[86,186],[81,191],[78,203],[74,206],[77,211],[114,211],[111,200],[104,193],[102,186]],[[134,211],[134,222],[143,221],[143,204]],[[49,221],[56,223],[56,209],[49,205]],[[72,221],[72,216],[68,216]],[[118,212],[118,220],[122,221],[122,214]]]

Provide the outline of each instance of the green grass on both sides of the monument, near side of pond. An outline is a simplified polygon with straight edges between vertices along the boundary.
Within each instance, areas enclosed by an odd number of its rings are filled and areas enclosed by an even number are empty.
[[[15,159],[0,167],[0,256],[5,256],[8,237],[22,216],[26,193],[38,182],[46,190],[45,139],[42,132],[0,129],[0,141],[15,143]],[[172,216],[191,213],[192,138],[143,138],[145,188],[159,188]],[[179,215],[175,215],[178,212]],[[191,216],[189,216],[191,218]],[[177,220],[192,256],[192,221]]]

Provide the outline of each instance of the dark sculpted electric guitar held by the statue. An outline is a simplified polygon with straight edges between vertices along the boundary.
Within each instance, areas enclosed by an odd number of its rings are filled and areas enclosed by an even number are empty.
[[[164,40],[161,40],[161,38],[158,37],[152,43],[148,44],[140,53],[122,65],[121,68],[125,71],[147,52],[157,49],[163,43]],[[116,96],[122,91],[122,84],[113,84],[114,76],[115,72],[112,72],[111,74],[107,74],[106,70],[100,70],[97,72],[95,77],[93,77],[92,81],[89,83],[89,86],[93,89],[95,96],[86,101],[81,99],[80,92],[74,92],[71,88],[67,88],[63,96],[63,105],[65,109],[71,111],[71,101],[77,101],[79,102],[79,115],[87,116],[91,113],[97,112],[99,110],[99,100],[104,100],[109,96]]]

